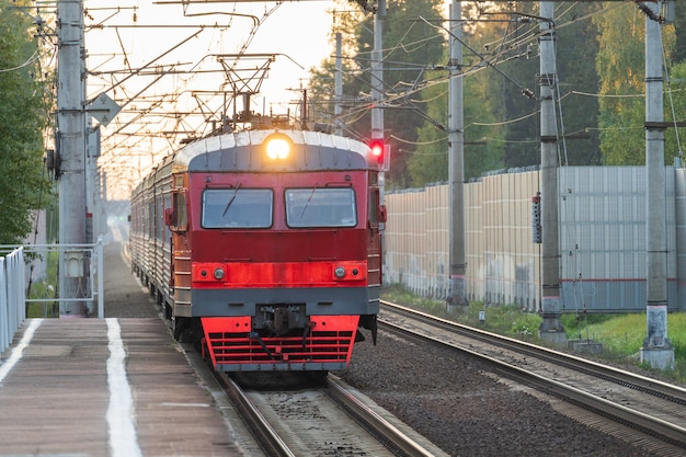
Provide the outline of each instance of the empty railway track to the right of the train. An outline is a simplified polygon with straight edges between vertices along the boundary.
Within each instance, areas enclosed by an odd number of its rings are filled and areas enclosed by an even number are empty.
[[[493,373],[584,409],[584,422],[594,422],[608,434],[659,455],[686,452],[686,389],[682,387],[389,302],[382,302],[379,324],[404,338],[446,344],[485,359]]]

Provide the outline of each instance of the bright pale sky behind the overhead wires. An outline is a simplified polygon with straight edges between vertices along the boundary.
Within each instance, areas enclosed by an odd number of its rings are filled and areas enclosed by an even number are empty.
[[[207,121],[218,119],[222,98],[217,93],[233,92],[218,54],[274,55],[273,61],[242,59],[230,80],[235,88],[259,90],[251,111],[297,116],[310,68],[334,53],[335,18],[359,7],[330,0],[198,0],[186,7],[180,0],[84,0],[84,8],[87,99],[104,92],[122,106],[114,121],[101,126],[99,164],[108,173],[107,195],[128,198],[181,138],[207,134]],[[267,65],[266,78],[255,85],[258,69]],[[170,115],[188,112],[196,115]],[[227,113],[232,115],[231,108]]]

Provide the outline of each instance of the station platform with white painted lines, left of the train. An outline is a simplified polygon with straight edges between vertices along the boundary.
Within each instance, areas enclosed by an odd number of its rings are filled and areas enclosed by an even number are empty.
[[[159,318],[27,319],[0,358],[0,456],[242,456],[211,390]]]

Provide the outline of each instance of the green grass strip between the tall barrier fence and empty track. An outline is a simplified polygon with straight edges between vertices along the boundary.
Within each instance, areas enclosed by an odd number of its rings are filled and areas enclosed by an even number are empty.
[[[381,298],[493,333],[541,343],[538,328],[542,321],[537,313],[523,312],[516,305],[484,306],[481,301],[469,304],[466,313],[448,313],[443,300],[414,296],[402,285],[393,284],[381,290]],[[485,319],[479,319],[483,311]],[[601,358],[639,365],[639,350],[647,334],[645,313],[573,315],[561,318],[568,340],[594,340],[603,343]],[[675,369],[662,375],[686,382],[686,313],[672,312],[667,317],[667,338],[674,346]],[[643,366],[649,369],[649,367]]]

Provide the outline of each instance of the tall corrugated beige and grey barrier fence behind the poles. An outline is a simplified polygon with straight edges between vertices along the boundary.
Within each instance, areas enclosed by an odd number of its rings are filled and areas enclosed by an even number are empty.
[[[531,242],[538,171],[493,174],[465,186],[470,300],[540,304],[540,244]],[[645,171],[565,167],[559,171],[561,302],[565,310],[645,309]],[[666,168],[670,308],[686,294],[684,169]],[[448,186],[386,194],[385,281],[415,294],[448,294]],[[678,218],[677,218],[678,216]],[[678,243],[677,243],[678,241]],[[677,269],[677,265],[681,269]],[[683,297],[682,297],[683,298]],[[683,309],[683,306],[682,306]]]

